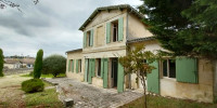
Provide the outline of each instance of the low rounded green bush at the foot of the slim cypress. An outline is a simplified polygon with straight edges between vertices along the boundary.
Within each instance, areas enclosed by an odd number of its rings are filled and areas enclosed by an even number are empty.
[[[22,82],[22,90],[26,93],[42,92],[44,84],[40,79],[30,79]]]

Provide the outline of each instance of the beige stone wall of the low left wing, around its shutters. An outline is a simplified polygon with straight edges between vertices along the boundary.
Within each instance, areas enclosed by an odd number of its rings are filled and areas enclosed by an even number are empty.
[[[68,60],[74,59],[74,72],[68,71]],[[76,63],[75,59],[81,59],[81,72],[76,73]],[[84,75],[85,75],[85,59],[82,57],[81,51],[76,51],[67,54],[67,65],[66,65],[66,76],[68,78],[77,79],[78,81],[84,81]]]

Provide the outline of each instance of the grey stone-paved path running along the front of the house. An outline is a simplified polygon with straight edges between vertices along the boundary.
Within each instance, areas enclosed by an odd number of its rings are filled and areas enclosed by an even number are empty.
[[[79,82],[68,78],[46,79],[51,83],[59,83],[60,98],[72,98],[75,108],[117,108],[143,94],[126,91],[117,93],[114,89],[102,89],[86,82]]]

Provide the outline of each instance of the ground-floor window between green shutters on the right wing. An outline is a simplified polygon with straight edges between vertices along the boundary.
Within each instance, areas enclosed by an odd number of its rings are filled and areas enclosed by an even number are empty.
[[[176,60],[164,59],[162,60],[163,77],[176,78]]]

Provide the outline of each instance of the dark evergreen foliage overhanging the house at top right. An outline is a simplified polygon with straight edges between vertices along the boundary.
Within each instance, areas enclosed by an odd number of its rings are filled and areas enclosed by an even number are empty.
[[[143,22],[164,49],[175,56],[217,57],[216,0],[143,1]]]

